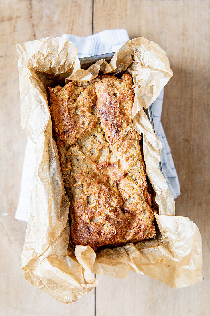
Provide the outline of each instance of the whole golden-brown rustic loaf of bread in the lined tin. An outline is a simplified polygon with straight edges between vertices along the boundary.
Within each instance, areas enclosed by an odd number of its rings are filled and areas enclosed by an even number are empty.
[[[155,236],[132,78],[102,75],[49,88],[74,245],[123,245]]]

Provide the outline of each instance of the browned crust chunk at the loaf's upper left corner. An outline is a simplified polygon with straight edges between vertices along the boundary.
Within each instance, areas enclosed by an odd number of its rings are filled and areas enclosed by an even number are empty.
[[[77,141],[85,130],[95,125],[96,105],[94,84],[69,82],[64,88],[49,88],[50,114],[58,138],[69,144]],[[85,106],[89,104],[89,106]]]

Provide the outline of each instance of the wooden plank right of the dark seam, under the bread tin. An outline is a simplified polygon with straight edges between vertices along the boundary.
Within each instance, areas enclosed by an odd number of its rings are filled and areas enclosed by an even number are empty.
[[[209,1],[94,1],[94,33],[126,28],[167,53],[174,76],[165,87],[162,124],[172,149],[181,196],[177,215],[188,216],[203,238],[203,282],[170,289],[129,273],[99,276],[96,315],[207,315],[209,277]]]

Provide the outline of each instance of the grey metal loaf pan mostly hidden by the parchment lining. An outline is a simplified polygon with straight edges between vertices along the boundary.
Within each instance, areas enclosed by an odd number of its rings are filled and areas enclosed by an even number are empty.
[[[89,56],[89,57],[84,57],[84,58],[79,58],[80,61],[80,67],[82,69],[88,69],[92,64],[95,64],[98,60],[104,59],[106,60],[108,63],[111,61],[112,57],[114,56],[115,52],[113,53],[107,53],[107,54],[101,54],[101,55],[96,55],[96,56]],[[153,122],[153,118],[152,118],[152,110],[151,110],[151,106],[149,106],[147,109],[144,109],[144,112],[146,113],[148,119],[150,120],[154,131],[155,131],[155,127],[154,127],[154,122]],[[159,169],[162,172],[162,166],[161,166],[161,162],[159,163]]]

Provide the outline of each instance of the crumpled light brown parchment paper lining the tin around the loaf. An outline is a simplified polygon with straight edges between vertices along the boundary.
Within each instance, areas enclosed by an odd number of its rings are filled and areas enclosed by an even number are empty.
[[[144,38],[129,40],[110,64],[100,60],[80,69],[77,48],[64,38],[16,44],[20,75],[21,124],[35,143],[36,169],[31,215],[21,256],[25,278],[58,301],[77,301],[98,284],[93,273],[126,277],[129,270],[172,288],[201,281],[201,235],[187,217],[175,216],[175,203],[158,164],[161,143],[143,112],[172,76],[166,53]],[[162,238],[94,252],[70,242],[69,199],[65,193],[46,89],[69,80],[88,81],[127,70],[134,82],[133,127],[143,134],[146,173],[155,190]],[[66,80],[65,80],[66,79]],[[64,82],[65,81],[65,82]]]

